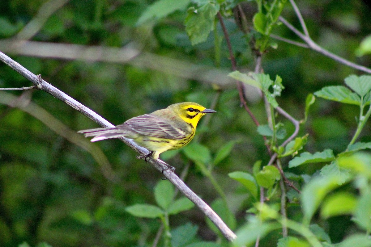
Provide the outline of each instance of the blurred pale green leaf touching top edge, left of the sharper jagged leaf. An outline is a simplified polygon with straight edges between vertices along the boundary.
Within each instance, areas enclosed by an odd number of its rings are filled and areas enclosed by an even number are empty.
[[[137,21],[137,26],[143,24],[150,19],[161,19],[169,14],[173,13],[175,10],[185,10],[185,8],[190,3],[190,0],[158,0],[152,3],[147,9],[142,13]]]

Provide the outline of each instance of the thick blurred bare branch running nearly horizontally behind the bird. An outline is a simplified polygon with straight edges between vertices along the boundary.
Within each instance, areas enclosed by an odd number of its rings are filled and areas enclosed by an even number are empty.
[[[140,51],[135,43],[129,43],[124,47],[118,48],[3,39],[0,40],[0,51],[16,55],[49,59],[132,64],[134,66],[173,74],[181,78],[217,84],[221,87],[226,87],[235,83],[235,81],[228,76],[229,70],[216,69],[211,66],[198,65]]]

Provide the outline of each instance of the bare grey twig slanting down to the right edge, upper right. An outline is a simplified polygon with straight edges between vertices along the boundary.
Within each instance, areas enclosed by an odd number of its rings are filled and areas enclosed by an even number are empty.
[[[359,64],[356,64],[356,63],[353,63],[353,62],[351,62],[351,61],[349,61],[347,59],[344,59],[342,57],[339,57],[338,55],[335,55],[334,53],[331,53],[330,51],[322,48],[317,43],[315,43],[311,39],[311,37],[306,36],[301,31],[299,31],[298,29],[296,29],[294,26],[292,26],[292,24],[290,24],[282,16],[279,17],[279,20],[283,24],[285,24],[285,26],[288,27],[291,31],[293,31],[296,35],[298,35],[303,41],[305,41],[305,43],[308,44],[309,48],[311,48],[312,50],[317,51],[318,53],[321,53],[322,55],[325,55],[325,56],[327,56],[327,57],[329,57],[331,59],[334,59],[335,61],[337,61],[339,63],[345,64],[345,65],[347,65],[349,67],[352,67],[354,69],[361,70],[361,71],[364,71],[365,73],[371,74],[371,69],[370,68],[367,68],[365,66],[362,66],[362,65],[359,65]]]

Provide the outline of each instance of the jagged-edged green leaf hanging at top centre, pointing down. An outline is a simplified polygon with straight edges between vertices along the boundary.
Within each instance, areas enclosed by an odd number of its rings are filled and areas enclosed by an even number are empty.
[[[219,8],[219,4],[209,2],[198,9],[193,7],[188,9],[184,24],[193,46],[206,41],[210,31],[214,29],[214,18]]]

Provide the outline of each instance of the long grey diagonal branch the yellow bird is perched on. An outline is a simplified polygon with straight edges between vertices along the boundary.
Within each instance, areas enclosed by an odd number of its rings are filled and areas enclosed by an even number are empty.
[[[114,127],[113,124],[109,123],[103,117],[96,114],[94,111],[89,109],[88,107],[84,106],[83,104],[79,103],[72,97],[68,96],[67,94],[63,93],[56,87],[52,86],[50,83],[47,83],[45,80],[41,79],[40,76],[36,76],[35,74],[31,73],[29,70],[25,69],[19,63],[11,59],[10,57],[6,56],[4,53],[0,52],[0,60],[3,61],[5,64],[10,66],[13,70],[20,73],[23,77],[27,80],[31,81],[33,84],[37,86],[37,88],[46,91],[47,93],[54,96],[56,99],[61,100],[62,102],[68,104],[72,108],[78,110],[83,115],[87,116],[89,119],[95,121],[102,127]],[[138,146],[134,141],[129,140],[127,138],[121,137],[120,140],[124,141],[129,147],[134,149],[140,155],[144,155],[148,153],[148,150]],[[219,228],[221,233],[224,237],[226,237],[229,241],[233,241],[236,238],[236,234],[233,233],[232,230],[221,220],[221,218],[211,209],[209,205],[207,205],[200,197],[198,197],[189,187],[187,187],[183,181],[174,173],[173,170],[168,168],[168,164],[164,161],[158,159],[154,160],[152,157],[148,157],[148,163],[152,164],[157,170],[161,171],[164,176],[175,185],[188,199],[190,199],[194,204],[200,208],[201,211]]]

